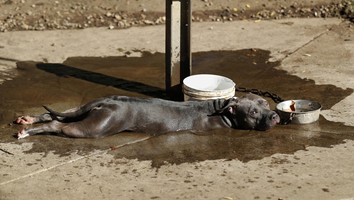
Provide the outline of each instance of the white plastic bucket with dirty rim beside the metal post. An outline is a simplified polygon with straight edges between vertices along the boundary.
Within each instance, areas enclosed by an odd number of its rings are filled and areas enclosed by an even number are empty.
[[[228,99],[235,96],[235,83],[224,76],[198,74],[183,80],[184,101]]]

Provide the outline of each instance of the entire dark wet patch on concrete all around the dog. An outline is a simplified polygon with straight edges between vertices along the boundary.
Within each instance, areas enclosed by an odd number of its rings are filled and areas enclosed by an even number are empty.
[[[270,91],[284,99],[309,99],[329,109],[353,92],[333,85],[315,85],[275,69],[279,62],[267,62],[269,51],[238,50],[193,53],[193,74],[226,76],[236,86]],[[41,104],[63,111],[109,95],[164,97],[164,54],[142,52],[142,57],[73,57],[62,64],[18,62],[17,76],[0,85],[0,141],[34,142],[24,153],[52,151],[68,156],[114,147],[122,137],[146,137],[141,133],[120,133],[98,139],[72,139],[48,135],[17,140],[13,135],[23,126],[8,125],[22,114],[38,114]],[[296,66],[295,66],[296,67]],[[244,93],[236,92],[236,96]],[[268,99],[271,109],[275,103]],[[33,125],[35,126],[35,125]],[[3,128],[2,128],[3,127]],[[310,125],[277,125],[265,132],[233,130],[169,133],[111,151],[116,158],[152,160],[159,167],[166,162],[181,164],[213,159],[261,159],[275,153],[293,153],[305,145],[330,147],[343,139],[354,139],[354,127],[330,122],[322,116]]]

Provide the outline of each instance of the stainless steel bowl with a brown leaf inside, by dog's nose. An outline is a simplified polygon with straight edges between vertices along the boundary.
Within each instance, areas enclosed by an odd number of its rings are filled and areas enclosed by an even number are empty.
[[[285,111],[290,108],[291,101],[296,102],[295,112],[291,124],[309,124],[318,120],[322,105],[315,101],[289,100],[276,105],[276,110],[280,119],[285,120],[290,117],[291,112]]]

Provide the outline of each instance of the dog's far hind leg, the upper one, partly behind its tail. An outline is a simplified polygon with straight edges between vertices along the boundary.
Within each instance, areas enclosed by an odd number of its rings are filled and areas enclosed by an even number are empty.
[[[72,109],[65,110],[63,113],[71,113],[75,112],[76,110],[80,109],[82,106],[75,107]],[[50,115],[48,113],[43,113],[39,115],[24,115],[16,119],[17,124],[35,124],[40,122],[48,122],[55,119],[63,119],[61,117],[57,117],[54,115]]]

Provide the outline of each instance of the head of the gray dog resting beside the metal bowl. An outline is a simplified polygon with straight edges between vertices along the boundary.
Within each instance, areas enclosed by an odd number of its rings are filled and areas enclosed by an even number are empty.
[[[268,102],[262,97],[247,94],[237,99],[225,101],[217,113],[231,116],[238,128],[265,131],[279,123],[279,116],[269,109]]]

